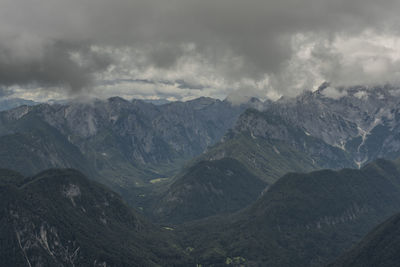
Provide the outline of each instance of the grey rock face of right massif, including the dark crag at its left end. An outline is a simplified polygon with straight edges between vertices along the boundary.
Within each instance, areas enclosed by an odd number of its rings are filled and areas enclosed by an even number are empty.
[[[336,88],[344,92],[340,98],[327,97],[325,90],[331,89],[324,84],[315,92],[269,103],[262,116],[245,113],[235,131],[283,140],[303,151],[314,150],[315,156],[325,155],[335,161],[347,155],[352,161],[348,166],[360,167],[379,157],[400,155],[397,88]],[[305,136],[315,138],[314,144],[319,140],[319,151],[307,147]],[[332,150],[336,150],[333,154],[337,156],[343,155],[332,158],[329,155]]]

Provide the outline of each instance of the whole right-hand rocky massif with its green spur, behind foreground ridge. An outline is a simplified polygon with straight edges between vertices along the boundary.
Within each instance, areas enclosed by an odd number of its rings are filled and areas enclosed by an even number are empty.
[[[204,161],[234,159],[268,186],[287,172],[359,168],[377,158],[400,156],[400,98],[392,92],[393,88],[348,88],[346,94],[337,99],[327,97],[325,90],[333,89],[324,84],[316,92],[277,102],[267,101],[258,110],[244,111],[220,142],[192,160],[170,185],[164,184],[168,187],[162,193],[165,197],[155,207],[148,207],[149,215],[156,213],[155,218],[161,221],[169,218],[171,222],[182,223],[190,220],[190,216],[184,215],[187,207],[200,203],[204,206],[197,206],[199,210],[217,208],[218,204],[210,207],[207,201],[195,201],[191,195],[183,193],[190,191],[187,188],[196,188],[203,199],[217,197],[216,191],[206,189],[208,181],[219,181],[217,173],[208,173],[208,179],[201,179],[199,172],[191,174],[192,179],[187,178],[187,169],[200,169]],[[243,175],[242,179],[252,179],[247,178],[251,175]],[[231,180],[229,184],[230,188],[236,188],[238,196],[242,192],[241,183]],[[256,191],[262,190],[259,187]],[[237,210],[247,204],[243,201]],[[232,211],[229,205],[225,207],[218,209]],[[163,212],[171,209],[180,216],[172,219]],[[214,213],[199,212],[196,218]],[[163,214],[166,217],[159,218]]]

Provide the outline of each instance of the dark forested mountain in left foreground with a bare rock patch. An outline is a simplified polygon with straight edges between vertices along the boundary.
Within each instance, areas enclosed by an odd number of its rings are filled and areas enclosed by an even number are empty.
[[[169,230],[71,169],[0,170],[1,266],[184,266]],[[186,263],[185,263],[186,262]]]

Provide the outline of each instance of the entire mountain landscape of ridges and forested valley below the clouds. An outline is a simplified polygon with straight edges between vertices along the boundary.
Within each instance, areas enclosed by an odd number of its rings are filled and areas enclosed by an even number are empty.
[[[400,212],[396,92],[325,83],[242,105],[113,97],[2,111],[0,260],[362,266],[376,247],[393,262],[379,240],[395,244],[397,217],[357,244]]]

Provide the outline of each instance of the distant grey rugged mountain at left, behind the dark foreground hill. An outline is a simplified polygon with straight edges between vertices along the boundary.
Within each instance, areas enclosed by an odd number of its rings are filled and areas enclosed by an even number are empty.
[[[0,113],[0,166],[29,175],[76,168],[135,198],[133,191],[216,143],[246,107],[211,98],[156,106],[118,97],[22,106]]]

